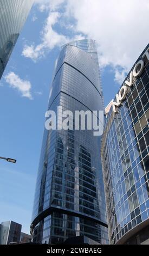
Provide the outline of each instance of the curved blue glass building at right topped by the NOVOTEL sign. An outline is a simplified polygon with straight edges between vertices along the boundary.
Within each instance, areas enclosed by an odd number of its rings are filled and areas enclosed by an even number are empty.
[[[149,244],[148,99],[149,45],[106,108],[101,157],[112,244]]]

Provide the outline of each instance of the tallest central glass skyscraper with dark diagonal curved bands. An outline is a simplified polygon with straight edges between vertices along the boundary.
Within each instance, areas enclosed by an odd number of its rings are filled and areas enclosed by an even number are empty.
[[[95,41],[63,46],[48,109],[102,110],[99,77]],[[100,137],[92,130],[44,130],[30,231],[33,242],[85,235],[108,243]]]

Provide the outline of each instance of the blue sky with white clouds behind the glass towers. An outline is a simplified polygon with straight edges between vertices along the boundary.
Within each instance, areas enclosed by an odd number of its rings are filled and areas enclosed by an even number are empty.
[[[129,5],[117,0],[107,1],[109,4],[94,0],[94,5],[91,0],[36,2],[0,83],[1,155],[17,159],[16,164],[1,161],[0,222],[21,223],[27,233],[44,114],[61,45],[73,39],[96,40],[107,105],[149,39],[148,0],[141,5],[138,0],[126,0]]]

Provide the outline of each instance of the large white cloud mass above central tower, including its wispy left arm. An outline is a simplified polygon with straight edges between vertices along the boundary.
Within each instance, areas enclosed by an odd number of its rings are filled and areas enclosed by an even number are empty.
[[[67,32],[95,39],[101,67],[111,65],[115,81],[121,83],[125,72],[131,69],[149,42],[149,0],[36,0],[36,3],[41,11],[49,13],[41,44],[24,47],[23,55],[33,60],[75,38],[53,29],[55,24],[61,23],[62,27],[66,25]]]

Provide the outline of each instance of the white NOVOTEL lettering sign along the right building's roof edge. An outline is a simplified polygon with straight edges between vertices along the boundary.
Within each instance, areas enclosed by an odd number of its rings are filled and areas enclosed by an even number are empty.
[[[149,47],[145,51],[144,54],[142,54],[141,58],[147,58],[149,60]],[[133,71],[130,73],[129,81],[125,80],[124,85],[120,88],[119,93],[116,94],[116,102],[112,100],[112,107],[113,112],[116,113],[116,107],[119,107],[122,103],[122,101],[125,100],[128,89],[133,86],[135,78],[141,75],[142,71],[144,70],[145,62],[144,60],[139,60],[137,64],[134,66]]]

